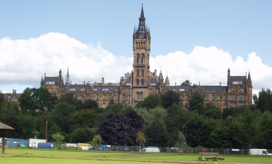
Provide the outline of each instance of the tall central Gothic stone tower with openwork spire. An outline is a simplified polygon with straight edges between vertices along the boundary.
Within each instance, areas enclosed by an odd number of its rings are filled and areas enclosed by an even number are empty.
[[[144,8],[142,5],[139,25],[133,32],[133,99],[141,101],[147,97],[149,77],[150,31],[145,25]]]

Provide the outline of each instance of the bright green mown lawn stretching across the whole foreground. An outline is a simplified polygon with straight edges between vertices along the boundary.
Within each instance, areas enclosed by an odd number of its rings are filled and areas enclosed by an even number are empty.
[[[0,149],[2,152],[2,149]],[[198,161],[197,154],[180,153],[139,153],[114,151],[81,150],[42,150],[6,148],[6,154],[0,154],[1,163],[14,164],[153,164],[153,163],[267,163],[272,164],[272,156],[219,155],[223,161]]]

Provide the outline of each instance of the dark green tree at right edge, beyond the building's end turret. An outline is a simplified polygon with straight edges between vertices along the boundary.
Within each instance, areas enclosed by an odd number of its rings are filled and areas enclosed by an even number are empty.
[[[262,88],[259,91],[258,96],[256,94],[253,95],[253,101],[256,108],[260,109],[262,112],[268,110],[272,112],[272,92],[269,89]]]

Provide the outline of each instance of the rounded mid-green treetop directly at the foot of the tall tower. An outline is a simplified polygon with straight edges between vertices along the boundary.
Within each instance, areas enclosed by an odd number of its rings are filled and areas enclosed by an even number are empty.
[[[161,99],[159,95],[148,95],[144,101],[140,101],[136,104],[136,108],[146,108],[147,110],[155,108],[161,105]]]

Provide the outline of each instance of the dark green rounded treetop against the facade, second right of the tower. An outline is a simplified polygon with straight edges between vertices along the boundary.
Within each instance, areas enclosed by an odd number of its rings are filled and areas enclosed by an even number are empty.
[[[165,94],[160,95],[160,98],[164,109],[167,109],[173,104],[178,104],[180,102],[180,95],[174,91],[166,92]]]

